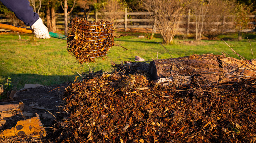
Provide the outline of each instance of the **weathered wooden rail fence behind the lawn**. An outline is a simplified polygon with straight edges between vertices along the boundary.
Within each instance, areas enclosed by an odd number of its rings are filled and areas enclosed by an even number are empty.
[[[111,14],[111,13],[107,13]],[[149,12],[127,12],[127,8],[125,9],[124,12],[119,12],[119,15],[122,15],[122,19],[117,19],[117,22],[120,22],[121,25],[117,25],[117,28],[123,28],[124,31],[127,31],[128,28],[151,28],[152,30],[155,29],[154,26],[154,20],[150,19],[150,14]],[[70,18],[75,17],[75,16],[80,16],[83,17],[84,13],[79,12],[79,13],[72,13]],[[89,19],[88,21],[98,21],[99,16],[101,13],[99,12],[91,12],[89,13]],[[133,17],[140,17],[139,19],[133,19]],[[143,18],[141,18],[143,17]],[[251,19],[256,19],[256,15],[248,15],[249,18]],[[243,32],[254,32],[256,31],[256,20],[254,22],[250,22],[250,24],[254,25],[252,26],[251,29],[244,29]],[[0,23],[5,23],[5,22],[10,22],[9,19],[1,19],[0,15]],[[221,22],[215,22],[216,24],[224,23],[225,21]],[[69,21],[68,21],[69,23]],[[190,10],[188,10],[188,13],[186,15],[181,16],[181,21],[178,22],[180,27],[178,28],[179,31],[189,34],[190,31],[194,31],[193,25],[195,25],[196,22],[191,20],[191,15],[190,15]],[[228,22],[226,22],[228,23]],[[232,24],[232,23],[230,23]],[[64,13],[56,13],[56,27],[57,29],[64,29]],[[1,29],[0,29],[1,30]],[[229,30],[228,32],[235,32],[235,30]]]

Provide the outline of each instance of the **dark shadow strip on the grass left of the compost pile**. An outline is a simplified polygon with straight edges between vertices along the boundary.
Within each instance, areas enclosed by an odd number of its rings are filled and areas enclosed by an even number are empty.
[[[11,77],[11,84],[14,89],[21,89],[25,84],[41,84],[44,86],[53,86],[68,82],[73,82],[77,75],[40,75],[40,74],[8,74]],[[2,76],[7,79],[7,77]],[[81,77],[81,76],[79,76]]]

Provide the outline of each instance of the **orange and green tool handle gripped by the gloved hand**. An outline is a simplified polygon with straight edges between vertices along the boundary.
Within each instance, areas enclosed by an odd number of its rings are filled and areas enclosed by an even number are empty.
[[[8,24],[0,24],[0,29],[5,29],[5,30],[11,30],[11,31],[16,31],[16,32],[22,32],[22,33],[28,33],[28,34],[34,34],[34,30],[26,27],[19,27],[19,26],[13,26],[13,25],[8,25]],[[49,32],[50,36],[53,38],[58,38],[62,40],[67,40],[67,36]]]

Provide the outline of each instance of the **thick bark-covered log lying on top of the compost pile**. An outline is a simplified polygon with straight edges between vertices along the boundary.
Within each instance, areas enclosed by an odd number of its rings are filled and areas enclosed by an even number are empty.
[[[213,54],[153,60],[149,64],[152,80],[191,76],[199,82],[237,82],[239,79],[255,79],[255,71],[256,67],[250,61]]]

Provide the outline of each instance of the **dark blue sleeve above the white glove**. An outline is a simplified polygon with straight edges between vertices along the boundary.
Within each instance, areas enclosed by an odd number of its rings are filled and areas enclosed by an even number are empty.
[[[25,25],[33,25],[39,15],[33,11],[28,0],[0,0],[4,6],[14,12],[15,16],[23,21]]]

